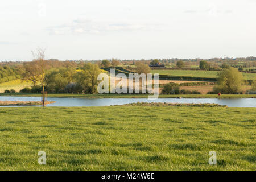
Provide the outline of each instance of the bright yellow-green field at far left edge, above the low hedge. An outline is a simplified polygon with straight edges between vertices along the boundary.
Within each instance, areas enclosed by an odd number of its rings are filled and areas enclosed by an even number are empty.
[[[14,89],[16,92],[19,92],[19,90],[31,85],[32,82],[23,82],[21,79],[3,82],[0,84],[0,93],[10,89]]]

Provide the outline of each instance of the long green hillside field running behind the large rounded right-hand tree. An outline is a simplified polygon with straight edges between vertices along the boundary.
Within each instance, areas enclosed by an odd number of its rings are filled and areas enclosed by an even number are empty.
[[[168,76],[189,76],[189,77],[204,77],[217,78],[218,71],[201,71],[201,70],[164,70],[155,69],[151,73],[159,73],[159,75]],[[246,80],[256,80],[256,73],[242,73]]]

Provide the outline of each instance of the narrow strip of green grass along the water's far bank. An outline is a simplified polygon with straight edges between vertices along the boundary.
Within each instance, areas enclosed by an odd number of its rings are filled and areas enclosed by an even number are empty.
[[[1,96],[17,97],[41,97],[38,93],[0,93]],[[47,97],[69,97],[69,98],[148,98],[147,94],[48,94]],[[159,98],[256,98],[256,94],[187,94],[187,95],[159,95]]]

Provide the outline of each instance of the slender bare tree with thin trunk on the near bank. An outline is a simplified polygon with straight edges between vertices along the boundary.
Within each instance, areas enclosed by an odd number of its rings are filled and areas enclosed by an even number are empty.
[[[32,51],[32,55],[34,57],[34,60],[32,61],[32,64],[34,64],[36,75],[38,75],[38,81],[40,82],[40,85],[42,86],[42,97],[43,97],[43,106],[46,105],[46,86],[48,82],[47,78],[47,61],[45,60],[45,50],[42,48],[38,48],[35,52]]]

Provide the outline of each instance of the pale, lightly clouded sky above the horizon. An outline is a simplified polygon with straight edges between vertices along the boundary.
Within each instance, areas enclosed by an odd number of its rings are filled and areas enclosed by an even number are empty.
[[[2,0],[0,61],[256,56],[256,0]]]

